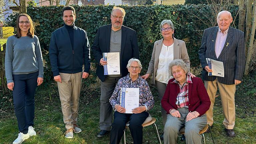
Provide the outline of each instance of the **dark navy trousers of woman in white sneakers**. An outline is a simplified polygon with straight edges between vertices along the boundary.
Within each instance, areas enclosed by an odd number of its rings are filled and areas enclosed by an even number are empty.
[[[13,103],[19,131],[27,134],[28,127],[34,126],[35,90],[38,71],[30,74],[12,75]]]

